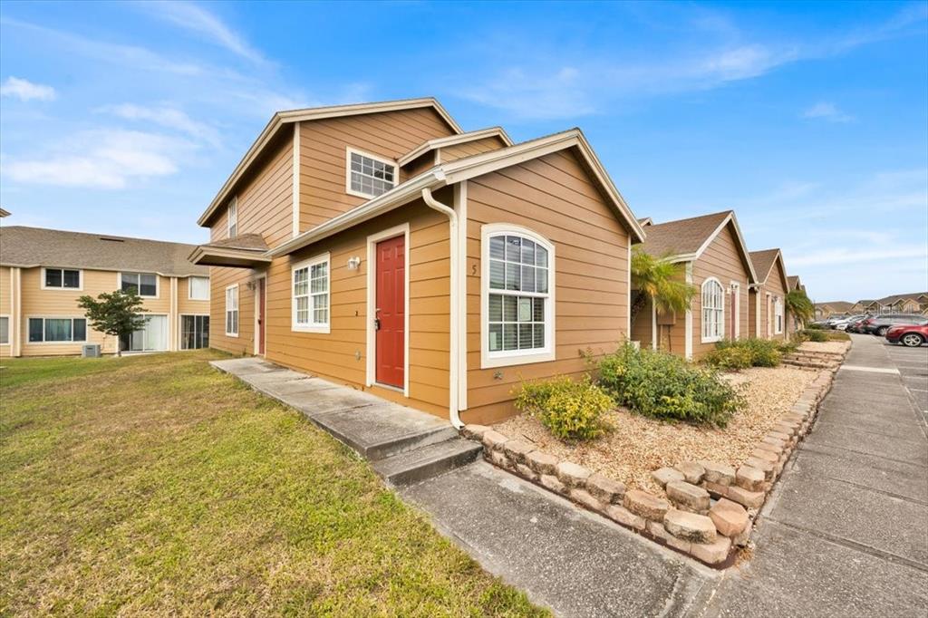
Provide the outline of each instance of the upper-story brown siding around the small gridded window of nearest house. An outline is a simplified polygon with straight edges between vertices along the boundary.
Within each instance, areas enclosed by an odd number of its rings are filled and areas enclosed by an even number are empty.
[[[347,147],[395,161],[422,142],[446,135],[455,132],[431,108],[302,122],[301,231],[366,201],[345,192]]]

